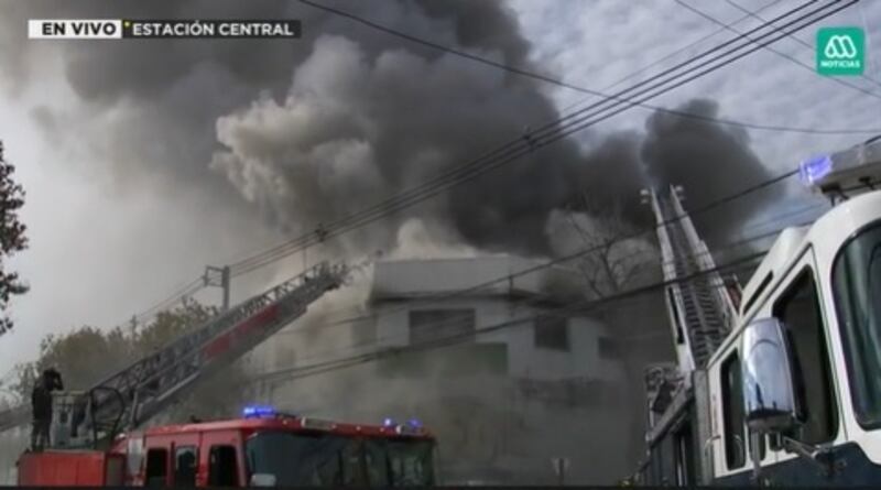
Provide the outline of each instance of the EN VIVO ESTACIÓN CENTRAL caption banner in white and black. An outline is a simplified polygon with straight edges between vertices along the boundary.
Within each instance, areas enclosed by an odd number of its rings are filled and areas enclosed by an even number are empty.
[[[36,40],[298,39],[298,20],[41,19],[28,21]]]

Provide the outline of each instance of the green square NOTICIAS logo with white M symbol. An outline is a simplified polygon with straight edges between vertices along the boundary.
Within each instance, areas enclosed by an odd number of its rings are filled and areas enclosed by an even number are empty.
[[[817,31],[817,73],[862,75],[864,35],[859,28],[824,28]]]

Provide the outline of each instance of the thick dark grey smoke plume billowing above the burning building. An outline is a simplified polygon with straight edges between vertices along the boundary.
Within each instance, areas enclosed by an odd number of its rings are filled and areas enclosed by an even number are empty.
[[[529,43],[497,2],[342,7],[530,66]],[[405,44],[300,3],[36,1],[0,8],[8,33],[25,18],[50,12],[197,18],[207,11],[216,18],[303,19],[304,39],[64,44],[65,74],[83,107],[41,107],[35,117],[62,141],[72,138],[64,128],[76,123],[76,138],[85,137],[101,161],[112,162],[122,184],[159,175],[167,177],[166,185],[236,192],[273,226],[297,233],[425,182],[557,116],[534,80]],[[17,74],[13,85],[26,80],[44,47],[21,45],[23,39],[11,37],[15,42],[0,53],[6,65],[20,68],[4,70]],[[708,101],[685,109],[717,112]],[[627,220],[650,222],[639,206],[639,189],[649,182],[641,160],[653,182],[685,185],[694,203],[763,176],[742,133],[667,115],[651,118],[648,132],[644,140],[610,135],[587,154],[573,142],[556,143],[351,233],[344,243],[360,251],[388,248],[403,220],[417,216],[480,249],[547,254],[551,211],[572,206],[581,193],[590,196],[590,213],[619,206]],[[742,213],[705,224],[736,227],[740,220],[728,218]]]

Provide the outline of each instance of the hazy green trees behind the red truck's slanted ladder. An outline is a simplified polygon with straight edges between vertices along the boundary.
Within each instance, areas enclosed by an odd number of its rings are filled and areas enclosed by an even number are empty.
[[[50,335],[41,342],[36,361],[17,367],[17,382],[11,389],[28,400],[39,373],[55,367],[64,377],[66,389],[85,390],[202,325],[217,313],[216,307],[191,300],[182,306],[160,313],[144,325],[131,324],[128,328],[110,330],[83,326],[66,334]],[[191,395],[184,396],[182,403],[166,415],[178,420],[189,415],[207,417],[237,409],[239,399],[232,396],[235,392],[230,393],[229,386],[247,384],[243,371],[233,366],[218,378],[197,383]]]

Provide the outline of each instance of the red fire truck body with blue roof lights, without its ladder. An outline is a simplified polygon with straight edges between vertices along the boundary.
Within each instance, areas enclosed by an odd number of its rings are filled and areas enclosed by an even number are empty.
[[[417,422],[356,425],[248,407],[243,418],[118,436],[107,451],[25,453],[20,486],[421,487],[434,437]]]

